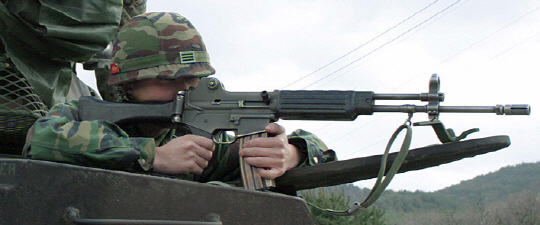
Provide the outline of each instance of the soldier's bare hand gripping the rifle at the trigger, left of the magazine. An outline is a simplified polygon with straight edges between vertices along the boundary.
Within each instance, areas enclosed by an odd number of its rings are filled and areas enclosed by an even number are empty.
[[[154,171],[164,174],[200,174],[212,158],[214,142],[211,139],[185,135],[156,147]]]

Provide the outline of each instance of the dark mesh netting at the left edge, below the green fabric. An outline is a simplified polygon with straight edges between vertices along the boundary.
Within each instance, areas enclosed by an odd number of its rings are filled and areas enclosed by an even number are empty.
[[[19,153],[28,129],[47,111],[9,56],[0,52],[0,153]]]

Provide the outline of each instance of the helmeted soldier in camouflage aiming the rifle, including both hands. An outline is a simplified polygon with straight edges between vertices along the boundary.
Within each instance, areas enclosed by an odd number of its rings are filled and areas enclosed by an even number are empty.
[[[189,58],[189,60],[187,59]],[[109,84],[125,102],[171,101],[215,73],[200,34],[175,13],[147,13],[131,19],[113,41]],[[200,182],[239,181],[238,162],[227,145],[201,136],[175,136],[173,129],[148,123],[119,127],[107,121],[80,121],[78,101],[57,105],[30,129],[28,156],[35,159],[128,171],[178,175]],[[270,124],[273,137],[257,138],[239,154],[273,179],[302,165],[334,160],[314,135]],[[237,158],[236,158],[237,159]]]

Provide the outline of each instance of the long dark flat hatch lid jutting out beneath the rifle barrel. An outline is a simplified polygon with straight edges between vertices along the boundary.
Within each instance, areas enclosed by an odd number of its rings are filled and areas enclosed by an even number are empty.
[[[508,136],[492,136],[412,149],[398,173],[438,166],[497,151],[509,145],[510,138]],[[391,153],[388,156],[387,165],[394,161],[396,155],[397,153]],[[375,178],[379,171],[381,158],[382,155],[374,155],[295,168],[278,177],[275,180],[276,187],[278,189],[304,190]]]

